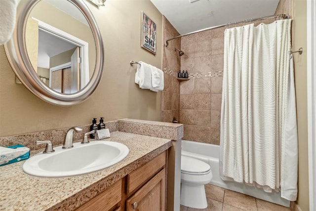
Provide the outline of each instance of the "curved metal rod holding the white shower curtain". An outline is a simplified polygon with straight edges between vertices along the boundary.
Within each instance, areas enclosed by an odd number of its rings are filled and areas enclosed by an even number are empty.
[[[184,35],[179,35],[179,36],[174,37],[174,38],[170,38],[170,39],[168,39],[166,41],[165,46],[168,46],[168,44],[169,44],[168,42],[169,41],[172,41],[172,40],[177,39],[177,38],[182,38],[184,36],[193,35],[193,34],[196,34],[196,33],[199,33],[199,32],[204,32],[204,31],[211,30],[211,29],[217,29],[217,28],[221,28],[221,27],[224,27],[224,26],[231,26],[232,24],[236,25],[236,24],[239,24],[239,23],[248,23],[248,22],[253,22],[253,21],[258,21],[258,20],[267,20],[267,19],[274,19],[274,18],[289,19],[289,15],[288,14],[287,15],[285,15],[285,14],[270,15],[270,16],[265,16],[265,17],[260,17],[260,18],[251,18],[249,20],[246,19],[246,20],[243,20],[243,21],[235,22],[235,23],[226,23],[226,24],[223,24],[223,25],[213,26],[213,27],[197,30],[197,31],[194,31],[194,32],[190,32],[190,33],[187,33],[187,34],[184,34]]]

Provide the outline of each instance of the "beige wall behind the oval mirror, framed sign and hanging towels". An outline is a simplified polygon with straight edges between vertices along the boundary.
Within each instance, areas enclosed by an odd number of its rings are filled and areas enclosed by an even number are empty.
[[[136,65],[144,61],[161,68],[162,15],[149,0],[107,0],[96,7],[85,1],[100,28],[105,49],[102,80],[85,102],[59,107],[41,101],[15,75],[0,46],[0,136],[90,124],[92,118],[105,121],[128,117],[160,120],[161,93],[140,89],[134,83]],[[157,54],[140,47],[141,11],[157,24]],[[23,141],[21,141],[23,143]]]

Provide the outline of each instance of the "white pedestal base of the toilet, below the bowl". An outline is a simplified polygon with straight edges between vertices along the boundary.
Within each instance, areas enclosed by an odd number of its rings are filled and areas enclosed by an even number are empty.
[[[195,209],[207,208],[204,185],[181,182],[180,204]]]

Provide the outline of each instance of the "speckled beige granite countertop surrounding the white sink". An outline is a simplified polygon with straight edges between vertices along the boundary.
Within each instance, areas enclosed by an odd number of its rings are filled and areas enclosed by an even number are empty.
[[[73,210],[138,169],[171,146],[170,139],[126,132],[112,132],[111,138],[129,148],[118,164],[88,174],[43,178],[23,172],[25,161],[0,167],[0,210]]]

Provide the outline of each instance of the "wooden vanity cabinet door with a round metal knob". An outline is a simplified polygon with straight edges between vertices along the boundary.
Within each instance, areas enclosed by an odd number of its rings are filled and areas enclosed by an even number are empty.
[[[126,211],[165,211],[165,169],[126,200]]]

